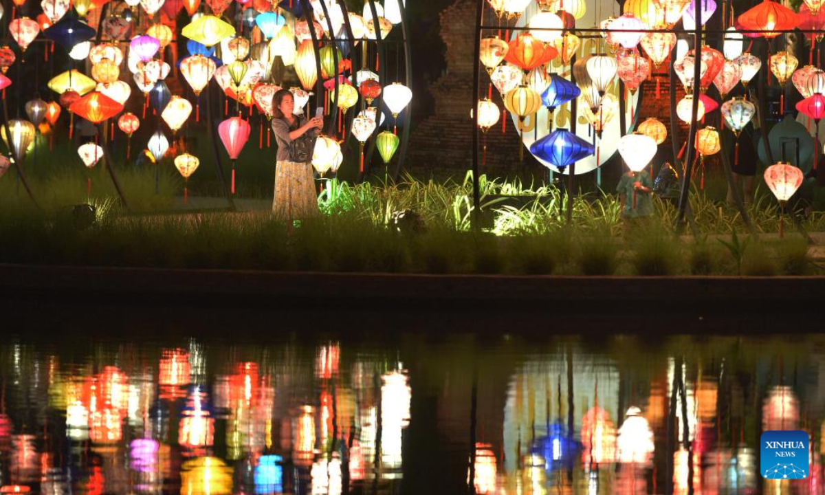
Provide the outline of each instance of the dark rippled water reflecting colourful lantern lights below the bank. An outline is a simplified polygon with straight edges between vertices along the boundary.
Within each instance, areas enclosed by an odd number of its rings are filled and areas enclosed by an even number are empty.
[[[0,493],[825,491],[825,337],[286,335],[7,341]]]

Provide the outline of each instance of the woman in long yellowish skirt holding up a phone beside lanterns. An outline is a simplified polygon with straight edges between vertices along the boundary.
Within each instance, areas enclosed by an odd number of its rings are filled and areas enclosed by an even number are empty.
[[[290,148],[302,136],[306,139],[318,134],[323,119],[314,117],[307,120],[304,115],[293,114],[294,109],[295,99],[289,90],[281,89],[272,97],[272,132],[278,143],[272,213],[286,222],[318,215],[318,196],[315,194],[310,163],[314,142],[310,140],[308,146],[304,146],[309,148],[309,156],[300,162],[295,161],[296,153],[292,153],[293,158],[290,158]]]

